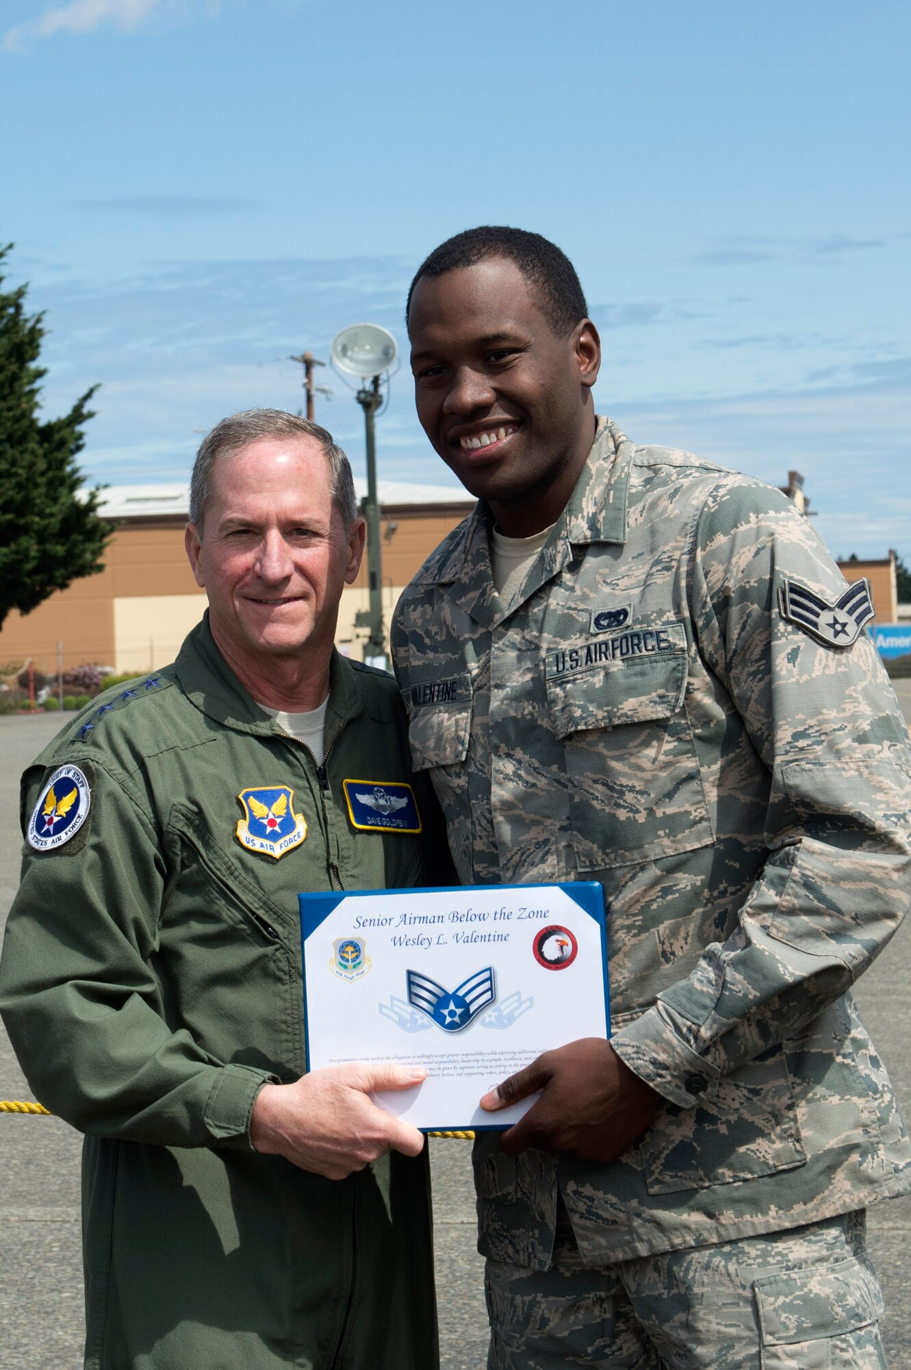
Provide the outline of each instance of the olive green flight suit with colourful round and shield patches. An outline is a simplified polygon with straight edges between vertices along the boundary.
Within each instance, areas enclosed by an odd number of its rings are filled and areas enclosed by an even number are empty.
[[[71,797],[66,771],[49,803],[62,766],[88,786]],[[345,778],[412,782],[395,682],[332,658],[317,769],[208,622],[23,777],[23,830],[45,836],[25,849],[0,1007],[36,1096],[86,1134],[92,1370],[438,1363],[427,1152],[332,1182],[248,1136],[261,1085],[305,1070],[297,893],[450,874],[424,777],[420,836],[356,830]],[[291,792],[280,854],[249,837],[238,796],[256,788]]]

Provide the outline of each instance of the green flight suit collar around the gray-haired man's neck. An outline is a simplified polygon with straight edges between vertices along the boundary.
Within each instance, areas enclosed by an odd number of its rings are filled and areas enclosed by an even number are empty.
[[[285,736],[275,719],[263,714],[260,706],[241,685],[215,645],[208,610],[202,622],[183,640],[174,670],[186,697],[208,718],[259,737],[271,737],[275,733]],[[357,671],[332,649],[330,703],[326,721],[327,737],[335,730],[330,714],[334,714],[336,719],[347,721],[360,714],[362,708],[364,696]]]

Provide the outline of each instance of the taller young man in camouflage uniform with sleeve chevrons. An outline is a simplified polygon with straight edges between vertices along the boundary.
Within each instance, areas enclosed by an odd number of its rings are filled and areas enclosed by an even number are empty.
[[[908,737],[774,489],[594,412],[566,258],[477,229],[409,296],[417,412],[476,496],[395,616],[465,882],[596,880],[611,1041],[479,1138],[495,1370],[882,1366],[863,1210],[911,1149],[851,985],[908,904]]]

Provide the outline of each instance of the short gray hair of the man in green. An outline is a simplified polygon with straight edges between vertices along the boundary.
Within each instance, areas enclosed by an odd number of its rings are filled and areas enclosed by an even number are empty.
[[[287,414],[285,410],[243,410],[241,414],[231,414],[202,438],[190,475],[190,523],[196,523],[202,532],[205,511],[212,503],[216,460],[233,456],[263,437],[316,438],[328,462],[332,504],[347,532],[357,518],[352,463],[327,429],[313,419],[304,419],[300,414]]]

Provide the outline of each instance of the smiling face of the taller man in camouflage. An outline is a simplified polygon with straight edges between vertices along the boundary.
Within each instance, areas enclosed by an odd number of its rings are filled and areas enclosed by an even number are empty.
[[[503,533],[547,527],[594,440],[594,323],[561,337],[514,262],[486,258],[420,277],[409,334],[417,416],[435,449]]]

